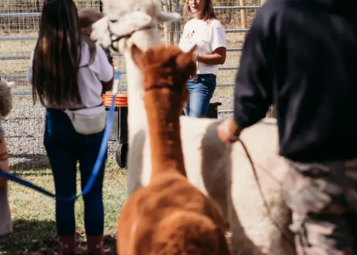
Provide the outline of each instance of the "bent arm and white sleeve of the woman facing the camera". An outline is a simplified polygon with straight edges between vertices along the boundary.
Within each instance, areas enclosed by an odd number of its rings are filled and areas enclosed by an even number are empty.
[[[227,48],[225,41],[225,31],[220,23],[212,31],[210,44],[212,48],[212,54],[196,55],[195,61],[207,65],[223,65],[226,58]]]

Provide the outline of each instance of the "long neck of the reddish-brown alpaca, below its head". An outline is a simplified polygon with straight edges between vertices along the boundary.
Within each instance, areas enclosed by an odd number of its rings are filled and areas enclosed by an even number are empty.
[[[151,179],[160,173],[179,172],[186,176],[180,137],[182,98],[168,88],[145,92],[151,147]]]

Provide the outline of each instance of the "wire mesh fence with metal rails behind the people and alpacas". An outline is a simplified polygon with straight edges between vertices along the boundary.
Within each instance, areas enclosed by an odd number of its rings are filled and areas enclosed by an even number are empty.
[[[128,0],[129,1],[129,0]],[[158,0],[159,1],[159,0]],[[229,115],[233,109],[234,80],[240,61],[242,44],[250,23],[263,0],[214,0],[215,13],[226,31],[227,57],[219,67],[217,88],[212,102],[219,101],[220,115]],[[0,75],[15,81],[13,89],[14,109],[3,120],[9,147],[12,170],[48,167],[43,146],[44,108],[32,102],[32,87],[25,81],[30,54],[39,33],[39,18],[43,0],[0,1]],[[90,7],[100,10],[99,0],[74,0],[78,9]],[[176,11],[180,21],[160,24],[162,43],[178,44],[185,23],[193,18],[184,17],[185,0],[162,0],[164,11]],[[114,65],[125,70],[124,59],[114,53]],[[122,75],[120,86],[126,87],[126,75]],[[110,142],[109,156],[114,154],[116,144]]]

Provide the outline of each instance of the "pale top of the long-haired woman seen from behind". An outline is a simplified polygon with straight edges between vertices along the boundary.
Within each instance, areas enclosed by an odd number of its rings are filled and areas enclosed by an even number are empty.
[[[85,66],[90,61],[89,45],[85,42],[82,44],[82,57],[80,66]],[[27,74],[28,83],[32,84],[32,66],[33,55],[31,54],[30,68]],[[109,63],[103,48],[96,45],[96,55],[91,65],[81,67],[78,72],[78,86],[82,99],[82,105],[75,105],[73,108],[93,107],[100,105],[103,101],[101,93],[103,91],[102,82],[109,82],[114,75],[113,66]],[[44,107],[54,108],[46,103],[44,98]]]

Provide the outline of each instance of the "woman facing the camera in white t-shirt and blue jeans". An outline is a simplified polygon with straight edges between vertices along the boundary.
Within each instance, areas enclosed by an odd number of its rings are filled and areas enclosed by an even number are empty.
[[[195,55],[197,74],[188,80],[190,99],[184,111],[187,116],[206,117],[216,89],[218,65],[225,62],[225,31],[214,13],[212,0],[186,0],[184,12],[194,18],[185,24],[179,46],[185,51],[194,44],[200,46]]]

